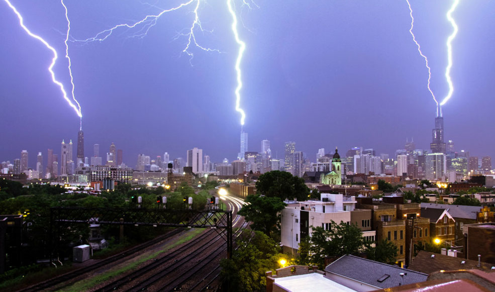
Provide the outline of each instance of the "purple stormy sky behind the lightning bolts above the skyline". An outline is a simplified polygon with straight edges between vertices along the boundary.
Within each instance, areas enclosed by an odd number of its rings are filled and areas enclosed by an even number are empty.
[[[55,73],[66,88],[67,29],[60,1],[12,0],[26,26],[59,54]],[[120,23],[132,23],[159,10],[133,1],[65,0],[71,37],[85,39]],[[163,9],[179,1],[153,1]],[[435,103],[427,90],[428,71],[409,33],[407,2],[258,0],[248,10],[236,0],[242,19],[241,108],[249,150],[271,142],[273,156],[295,141],[314,160],[318,148],[353,146],[393,154],[414,137],[429,149]],[[428,57],[431,87],[443,99],[446,39],[452,27],[446,12],[452,1],[411,0],[413,32]],[[240,115],[235,111],[235,61],[238,46],[225,1],[202,3],[205,29],[197,42],[221,53],[192,48],[181,53],[186,37],[174,39],[192,22],[194,5],[164,14],[144,38],[119,29],[104,42],[69,42],[75,96],[80,102],[85,156],[92,144],[101,154],[110,143],[124,150],[124,162],[138,153],[168,152],[184,157],[199,147],[212,161],[233,160],[239,152]],[[60,153],[62,139],[77,140],[79,118],[63,100],[47,70],[51,52],[28,36],[12,10],[0,1],[0,161],[27,149],[30,167],[38,151]],[[495,2],[461,1],[453,17],[459,32],[452,43],[454,94],[443,107],[445,138],[457,151],[495,157]],[[243,26],[243,25],[244,26]],[[491,121],[491,122],[490,122]],[[45,157],[46,161],[46,157]]]

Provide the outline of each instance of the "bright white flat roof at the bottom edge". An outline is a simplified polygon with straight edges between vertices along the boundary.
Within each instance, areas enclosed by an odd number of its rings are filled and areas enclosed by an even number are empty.
[[[275,285],[287,291],[356,291],[319,273],[275,278]]]

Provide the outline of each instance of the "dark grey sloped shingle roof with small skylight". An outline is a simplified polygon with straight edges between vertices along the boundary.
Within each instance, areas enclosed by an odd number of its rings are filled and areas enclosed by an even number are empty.
[[[366,272],[363,272],[366,271]],[[353,255],[344,255],[329,264],[325,272],[348,277],[367,284],[388,288],[426,281],[428,274],[403,269]],[[401,276],[401,273],[404,276]]]

